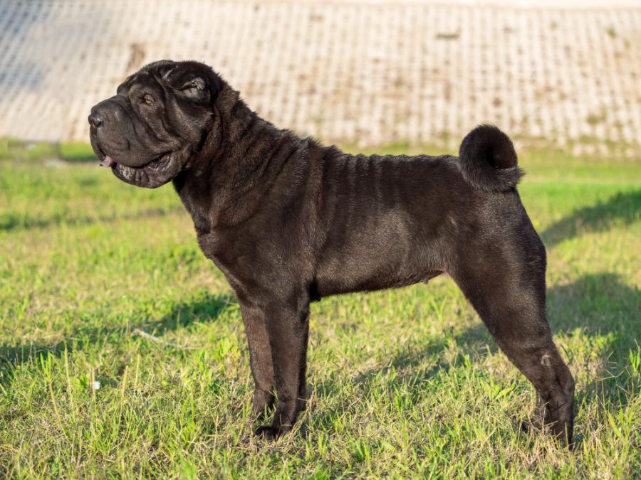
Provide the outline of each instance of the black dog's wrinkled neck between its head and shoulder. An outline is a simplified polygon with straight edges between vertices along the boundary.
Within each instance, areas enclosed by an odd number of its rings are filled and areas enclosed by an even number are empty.
[[[214,127],[199,158],[174,186],[200,233],[241,223],[301,142],[261,119],[226,86],[214,105]],[[298,139],[298,142],[296,142]],[[262,181],[269,173],[269,181]]]

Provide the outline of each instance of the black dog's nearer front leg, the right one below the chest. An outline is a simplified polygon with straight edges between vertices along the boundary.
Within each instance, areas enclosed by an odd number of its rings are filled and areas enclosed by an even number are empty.
[[[300,302],[297,308],[272,304],[265,314],[278,400],[271,425],[256,434],[276,438],[291,430],[306,402],[309,303]]]

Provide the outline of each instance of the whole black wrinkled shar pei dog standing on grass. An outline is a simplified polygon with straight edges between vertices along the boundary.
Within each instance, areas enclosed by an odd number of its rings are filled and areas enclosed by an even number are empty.
[[[570,443],[574,380],[546,319],[546,250],[516,191],[510,139],[481,125],[459,156],[350,155],[261,119],[202,63],[162,60],[89,115],[91,144],[135,186],[173,181],[241,308],[259,418],[306,405],[309,304],[449,274]]]

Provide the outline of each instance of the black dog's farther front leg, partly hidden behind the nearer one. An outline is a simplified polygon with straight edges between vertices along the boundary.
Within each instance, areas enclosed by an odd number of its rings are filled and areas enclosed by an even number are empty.
[[[251,376],[254,377],[254,400],[251,409],[254,418],[264,417],[266,410],[273,404],[273,366],[271,363],[271,347],[265,326],[264,312],[244,302],[239,302],[245,334],[249,342],[249,365]]]

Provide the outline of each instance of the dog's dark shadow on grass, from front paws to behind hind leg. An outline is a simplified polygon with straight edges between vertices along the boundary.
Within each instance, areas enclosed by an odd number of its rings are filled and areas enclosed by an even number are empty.
[[[622,385],[627,380],[625,370],[628,352],[636,348],[639,341],[639,289],[622,283],[617,274],[601,273],[585,275],[571,284],[552,287],[548,289],[547,294],[548,320],[553,334],[572,336],[580,332],[590,338],[590,343],[598,345],[601,352],[600,358],[594,358],[598,369],[592,375],[588,375],[587,382],[576,391],[577,405],[603,401],[604,404],[625,407],[634,395],[622,395]],[[444,353],[451,348],[452,341],[459,352],[454,363],[444,360]],[[372,380],[395,370],[395,375],[390,380],[391,384],[405,383],[412,388],[422,388],[422,385],[437,377],[439,373],[447,373],[448,370],[457,368],[464,362],[462,356],[465,354],[471,354],[474,361],[475,356],[488,350],[494,353],[498,351],[498,347],[478,319],[474,326],[459,334],[444,332],[443,337],[438,338],[436,343],[424,348],[397,348],[379,365],[355,375],[353,382],[360,385],[363,397],[380,395],[380,385],[372,387]],[[439,360],[435,365],[426,368],[424,359],[434,354],[437,354]],[[570,369],[574,370],[573,374],[577,376],[577,369],[581,366],[572,361],[573,352],[565,351],[562,356],[570,363]],[[391,392],[392,385],[389,386]],[[342,389],[343,385],[338,381],[325,380],[316,385],[315,390],[319,396],[340,397]],[[330,428],[337,414],[348,412],[351,408],[353,399],[341,398],[338,407],[333,407],[330,412],[318,412],[313,422]]]

